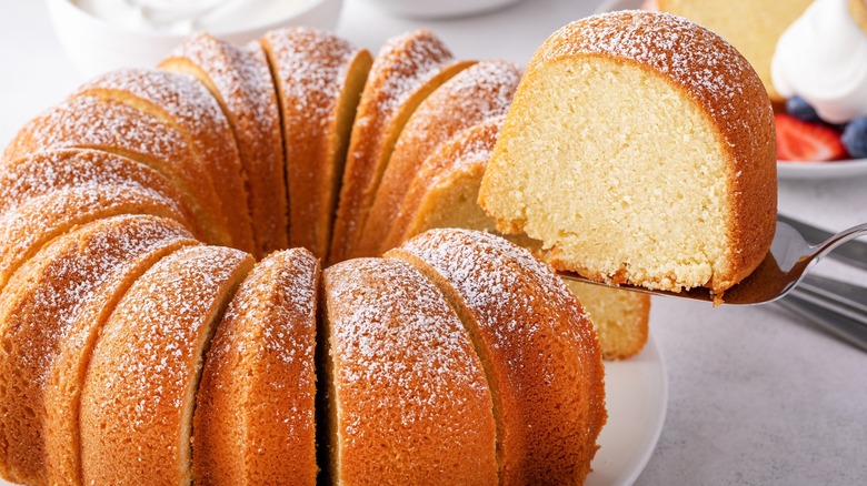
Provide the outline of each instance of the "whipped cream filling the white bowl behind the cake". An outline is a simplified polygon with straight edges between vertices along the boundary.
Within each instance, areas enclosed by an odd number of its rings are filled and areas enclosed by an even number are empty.
[[[257,28],[300,12],[319,0],[73,0],[110,23],[189,34]]]

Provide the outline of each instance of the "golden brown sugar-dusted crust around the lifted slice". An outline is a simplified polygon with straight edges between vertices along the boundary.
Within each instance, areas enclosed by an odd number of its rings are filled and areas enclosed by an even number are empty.
[[[776,227],[776,139],[764,85],[749,63],[718,36],[682,18],[644,11],[600,14],[564,27],[537,50],[521,85],[542,75],[545,65],[580,59],[591,62],[595,58],[629,63],[659,77],[692,100],[716,128],[729,156],[727,172],[720,174],[730,194],[731,211],[722,222],[730,241],[729,264],[706,285],[720,294],[761,262]],[[534,102],[527,98],[530,94],[519,88],[501,140],[519,130],[511,125],[519,123],[522,105]],[[495,162],[499,150],[498,144]],[[482,206],[488,198],[487,181],[486,176],[479,194]],[[520,231],[525,224],[502,219],[497,223],[509,232]],[[552,250],[552,265],[592,277],[592,270],[576,269],[559,253],[558,247]]]

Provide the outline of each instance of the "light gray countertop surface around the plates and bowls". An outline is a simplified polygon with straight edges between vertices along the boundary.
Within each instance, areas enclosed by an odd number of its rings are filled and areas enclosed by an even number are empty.
[[[390,18],[348,0],[338,33],[376,50],[432,28],[459,58],[526,63],[594,1],[527,0],[451,21]],[[0,145],[82,79],[40,1],[0,0]],[[780,212],[828,230],[867,222],[867,179],[780,181]],[[867,284],[834,262],[821,273]],[[668,416],[637,484],[866,484],[867,354],[777,305],[720,306],[655,298],[650,326],[669,378]]]

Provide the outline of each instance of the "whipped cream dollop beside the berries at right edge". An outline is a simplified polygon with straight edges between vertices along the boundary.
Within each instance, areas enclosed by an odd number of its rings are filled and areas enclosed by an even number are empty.
[[[807,100],[823,120],[867,115],[867,33],[848,0],[816,0],[783,33],[770,62],[774,88]]]

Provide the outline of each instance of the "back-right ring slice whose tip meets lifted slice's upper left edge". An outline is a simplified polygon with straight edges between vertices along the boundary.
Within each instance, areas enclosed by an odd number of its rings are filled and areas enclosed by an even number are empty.
[[[410,117],[382,174],[353,256],[378,254],[418,168],[437,148],[487,119],[506,114],[521,73],[508,61],[482,61],[428,97]]]

